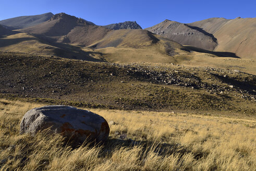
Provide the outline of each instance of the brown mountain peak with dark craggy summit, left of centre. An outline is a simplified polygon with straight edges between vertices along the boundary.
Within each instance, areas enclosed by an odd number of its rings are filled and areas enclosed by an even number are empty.
[[[41,37],[46,36],[58,43],[86,46],[101,40],[110,30],[96,26],[90,21],[60,13],[52,16],[48,21],[21,31]]]

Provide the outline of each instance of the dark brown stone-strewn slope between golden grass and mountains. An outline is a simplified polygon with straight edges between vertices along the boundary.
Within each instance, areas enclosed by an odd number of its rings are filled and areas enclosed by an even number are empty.
[[[3,52],[0,59],[0,95],[9,99],[127,110],[256,111],[256,76],[239,70]]]

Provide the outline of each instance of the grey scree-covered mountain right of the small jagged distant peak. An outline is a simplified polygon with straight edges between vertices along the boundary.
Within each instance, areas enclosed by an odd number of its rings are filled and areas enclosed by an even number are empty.
[[[155,34],[162,35],[165,38],[176,41],[182,45],[191,45],[204,50],[214,50],[217,46],[216,39],[210,33],[197,27],[191,27],[184,23],[164,20],[163,22],[146,28]]]

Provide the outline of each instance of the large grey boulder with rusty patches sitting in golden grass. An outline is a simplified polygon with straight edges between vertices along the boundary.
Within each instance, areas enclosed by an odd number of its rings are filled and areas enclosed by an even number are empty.
[[[61,133],[71,145],[87,141],[104,142],[109,135],[107,121],[100,115],[76,107],[50,105],[28,111],[20,123],[20,133],[31,133],[44,129]]]

